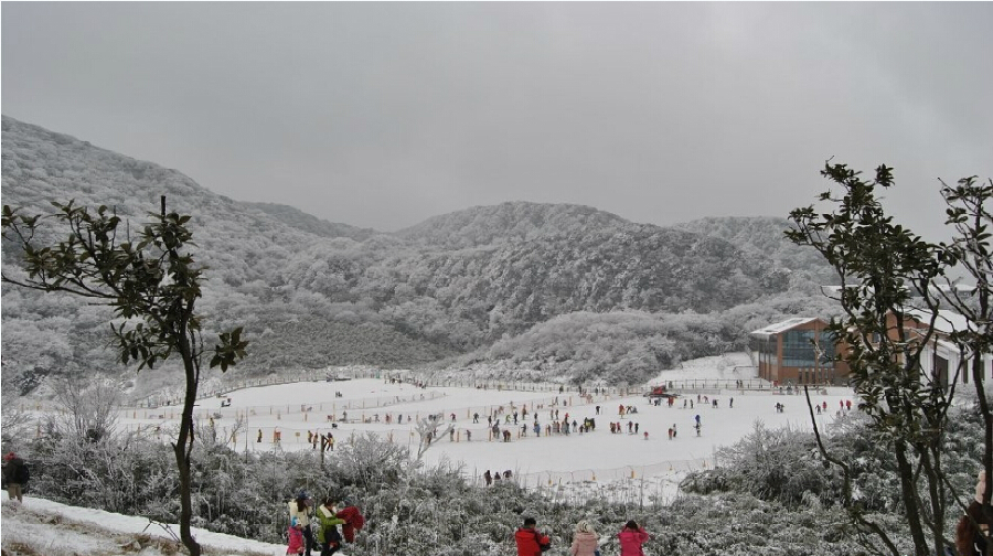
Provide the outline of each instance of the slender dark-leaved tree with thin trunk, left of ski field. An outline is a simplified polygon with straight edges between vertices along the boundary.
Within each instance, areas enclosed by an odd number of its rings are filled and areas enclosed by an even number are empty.
[[[205,350],[195,311],[202,296],[202,268],[189,246],[193,234],[190,216],[150,213],[152,222],[130,237],[127,224],[107,206],[92,213],[72,201],[52,203],[55,212],[28,216],[3,205],[3,239],[20,249],[23,271],[4,266],[2,280],[51,292],[62,291],[111,307],[110,323],[121,363],[137,362],[139,371],[179,354],[185,375],[185,395],[179,434],[173,443],[180,475],[180,536],[191,556],[201,548],[190,531],[192,483],[193,405],[200,385],[202,357],[211,353],[211,367],[226,371],[245,356],[242,329],[220,334],[213,350]],[[54,221],[58,231],[45,224]],[[49,239],[65,234],[63,239]],[[122,237],[119,237],[120,236]]]

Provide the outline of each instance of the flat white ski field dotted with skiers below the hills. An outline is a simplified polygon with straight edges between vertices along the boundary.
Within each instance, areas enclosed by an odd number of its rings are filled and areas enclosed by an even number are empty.
[[[416,451],[419,437],[414,432],[414,423],[441,414],[446,426],[453,423],[455,434],[436,439],[424,459],[428,463],[442,459],[460,463],[470,480],[481,480],[488,469],[510,470],[526,487],[674,479],[687,470],[713,466],[716,448],[735,442],[751,431],[757,421],[770,428],[810,428],[803,396],[781,395],[768,385],[758,389],[762,381],[755,378],[755,370],[748,364],[748,357],[737,353],[690,361],[681,368],[663,372],[651,384],[672,382],[676,386],[681,397],[672,407],[664,400],[661,406],[651,405],[641,395],[645,388],[632,395],[608,393],[584,398],[576,392],[559,394],[551,385],[544,391],[419,388],[385,378],[365,378],[236,391],[224,398],[201,399],[196,416],[201,425],[213,424],[222,438],[232,438],[232,446],[239,451],[312,450],[310,435],[328,432],[340,447],[352,435],[366,431]],[[746,387],[727,387],[736,381]],[[828,404],[828,410],[818,416],[823,428],[830,428],[840,402],[851,400],[854,407],[851,389],[843,387],[828,388],[826,394],[816,394],[813,400]],[[776,410],[777,403],[784,406],[783,411]],[[620,406],[631,406],[637,413],[621,416]],[[519,415],[514,425],[513,413],[524,408],[526,419]],[[510,442],[499,441],[490,432],[488,416],[499,411],[501,430],[512,431]],[[557,420],[566,415],[569,421],[579,424],[584,418],[594,418],[596,431],[546,436],[553,411]],[[542,427],[541,437],[534,435],[535,416]],[[700,436],[694,431],[697,416],[702,425]],[[178,418],[179,408],[174,406],[128,409],[122,413],[120,425],[158,434],[164,440],[174,430]],[[619,423],[623,432],[611,435],[611,421]],[[670,427],[676,430],[674,439],[669,438]]]

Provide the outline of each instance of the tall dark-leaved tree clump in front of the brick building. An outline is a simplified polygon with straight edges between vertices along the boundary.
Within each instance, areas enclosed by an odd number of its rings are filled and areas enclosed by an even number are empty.
[[[798,245],[816,249],[841,280],[839,301],[844,312],[829,327],[844,342],[839,357],[851,368],[852,384],[863,399],[859,407],[869,417],[878,440],[891,449],[914,554],[943,554],[951,544],[946,535],[952,501],[962,504],[943,469],[948,411],[960,370],[946,384],[938,376],[921,373],[920,363],[935,336],[941,307],[936,285],[953,264],[971,265],[978,288],[983,291],[982,299],[986,300],[982,304],[989,307],[990,236],[985,226],[990,213],[984,205],[993,196],[993,189],[972,188],[971,181],[960,190],[946,188],[949,223],[960,234],[947,246],[925,242],[886,213],[876,190],[894,185],[891,168],[880,165],[875,178],[865,181],[845,164],[829,162],[821,174],[843,190],[840,197],[830,191],[820,196],[836,209],[830,213],[818,213],[813,206],[797,209],[790,213],[797,228],[786,234]],[[975,356],[991,345],[989,309],[984,310],[968,313],[974,325],[970,333],[957,336],[963,346],[979,350]],[[978,317],[985,322],[976,321]],[[987,477],[993,477],[993,418],[985,404],[981,370],[973,373],[973,378],[986,421],[983,463]],[[829,462],[842,469],[845,506],[857,530],[869,538],[868,545],[874,552],[901,554],[894,538],[868,517],[855,496],[851,466],[832,457],[823,443],[821,451]],[[989,504],[989,485],[984,500]],[[993,543],[990,545],[993,547]]]

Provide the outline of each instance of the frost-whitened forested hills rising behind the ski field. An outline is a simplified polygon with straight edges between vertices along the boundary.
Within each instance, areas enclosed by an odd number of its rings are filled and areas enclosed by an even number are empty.
[[[771,298],[804,310],[797,302],[807,293],[797,290],[796,268],[692,231],[636,224],[585,206],[517,202],[383,234],[285,205],[234,201],[175,170],[12,118],[4,117],[2,127],[4,204],[42,213],[51,212],[51,201],[75,200],[108,205],[137,226],[166,195],[170,211],[192,216],[195,259],[209,267],[199,306],[206,330],[245,327],[252,342],[238,367],[245,372],[450,364],[466,353],[476,362],[505,362],[508,346],[515,346],[512,360],[530,364],[545,349],[531,336],[513,339],[553,320],[569,322],[572,313],[579,322],[612,313],[627,320],[632,312],[660,321],[679,313],[719,319],[743,303],[775,306]],[[17,271],[15,255],[4,243],[6,272]],[[105,349],[104,308],[7,284],[2,293],[4,377],[14,377],[9,384],[29,391],[49,374],[121,370]],[[759,321],[783,313],[761,314]],[[534,333],[541,330],[547,329]],[[668,338],[660,334],[645,338]],[[743,330],[722,338],[673,353],[650,346],[654,355],[642,367],[658,370],[674,356],[708,349],[740,349]],[[558,353],[556,376],[607,372],[630,359],[620,351],[599,354],[592,366],[581,351]]]

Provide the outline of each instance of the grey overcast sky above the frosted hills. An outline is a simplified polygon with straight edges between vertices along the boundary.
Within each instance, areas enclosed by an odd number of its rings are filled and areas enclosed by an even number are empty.
[[[394,231],[504,201],[786,216],[830,157],[993,177],[993,3],[2,3],[2,111]]]

